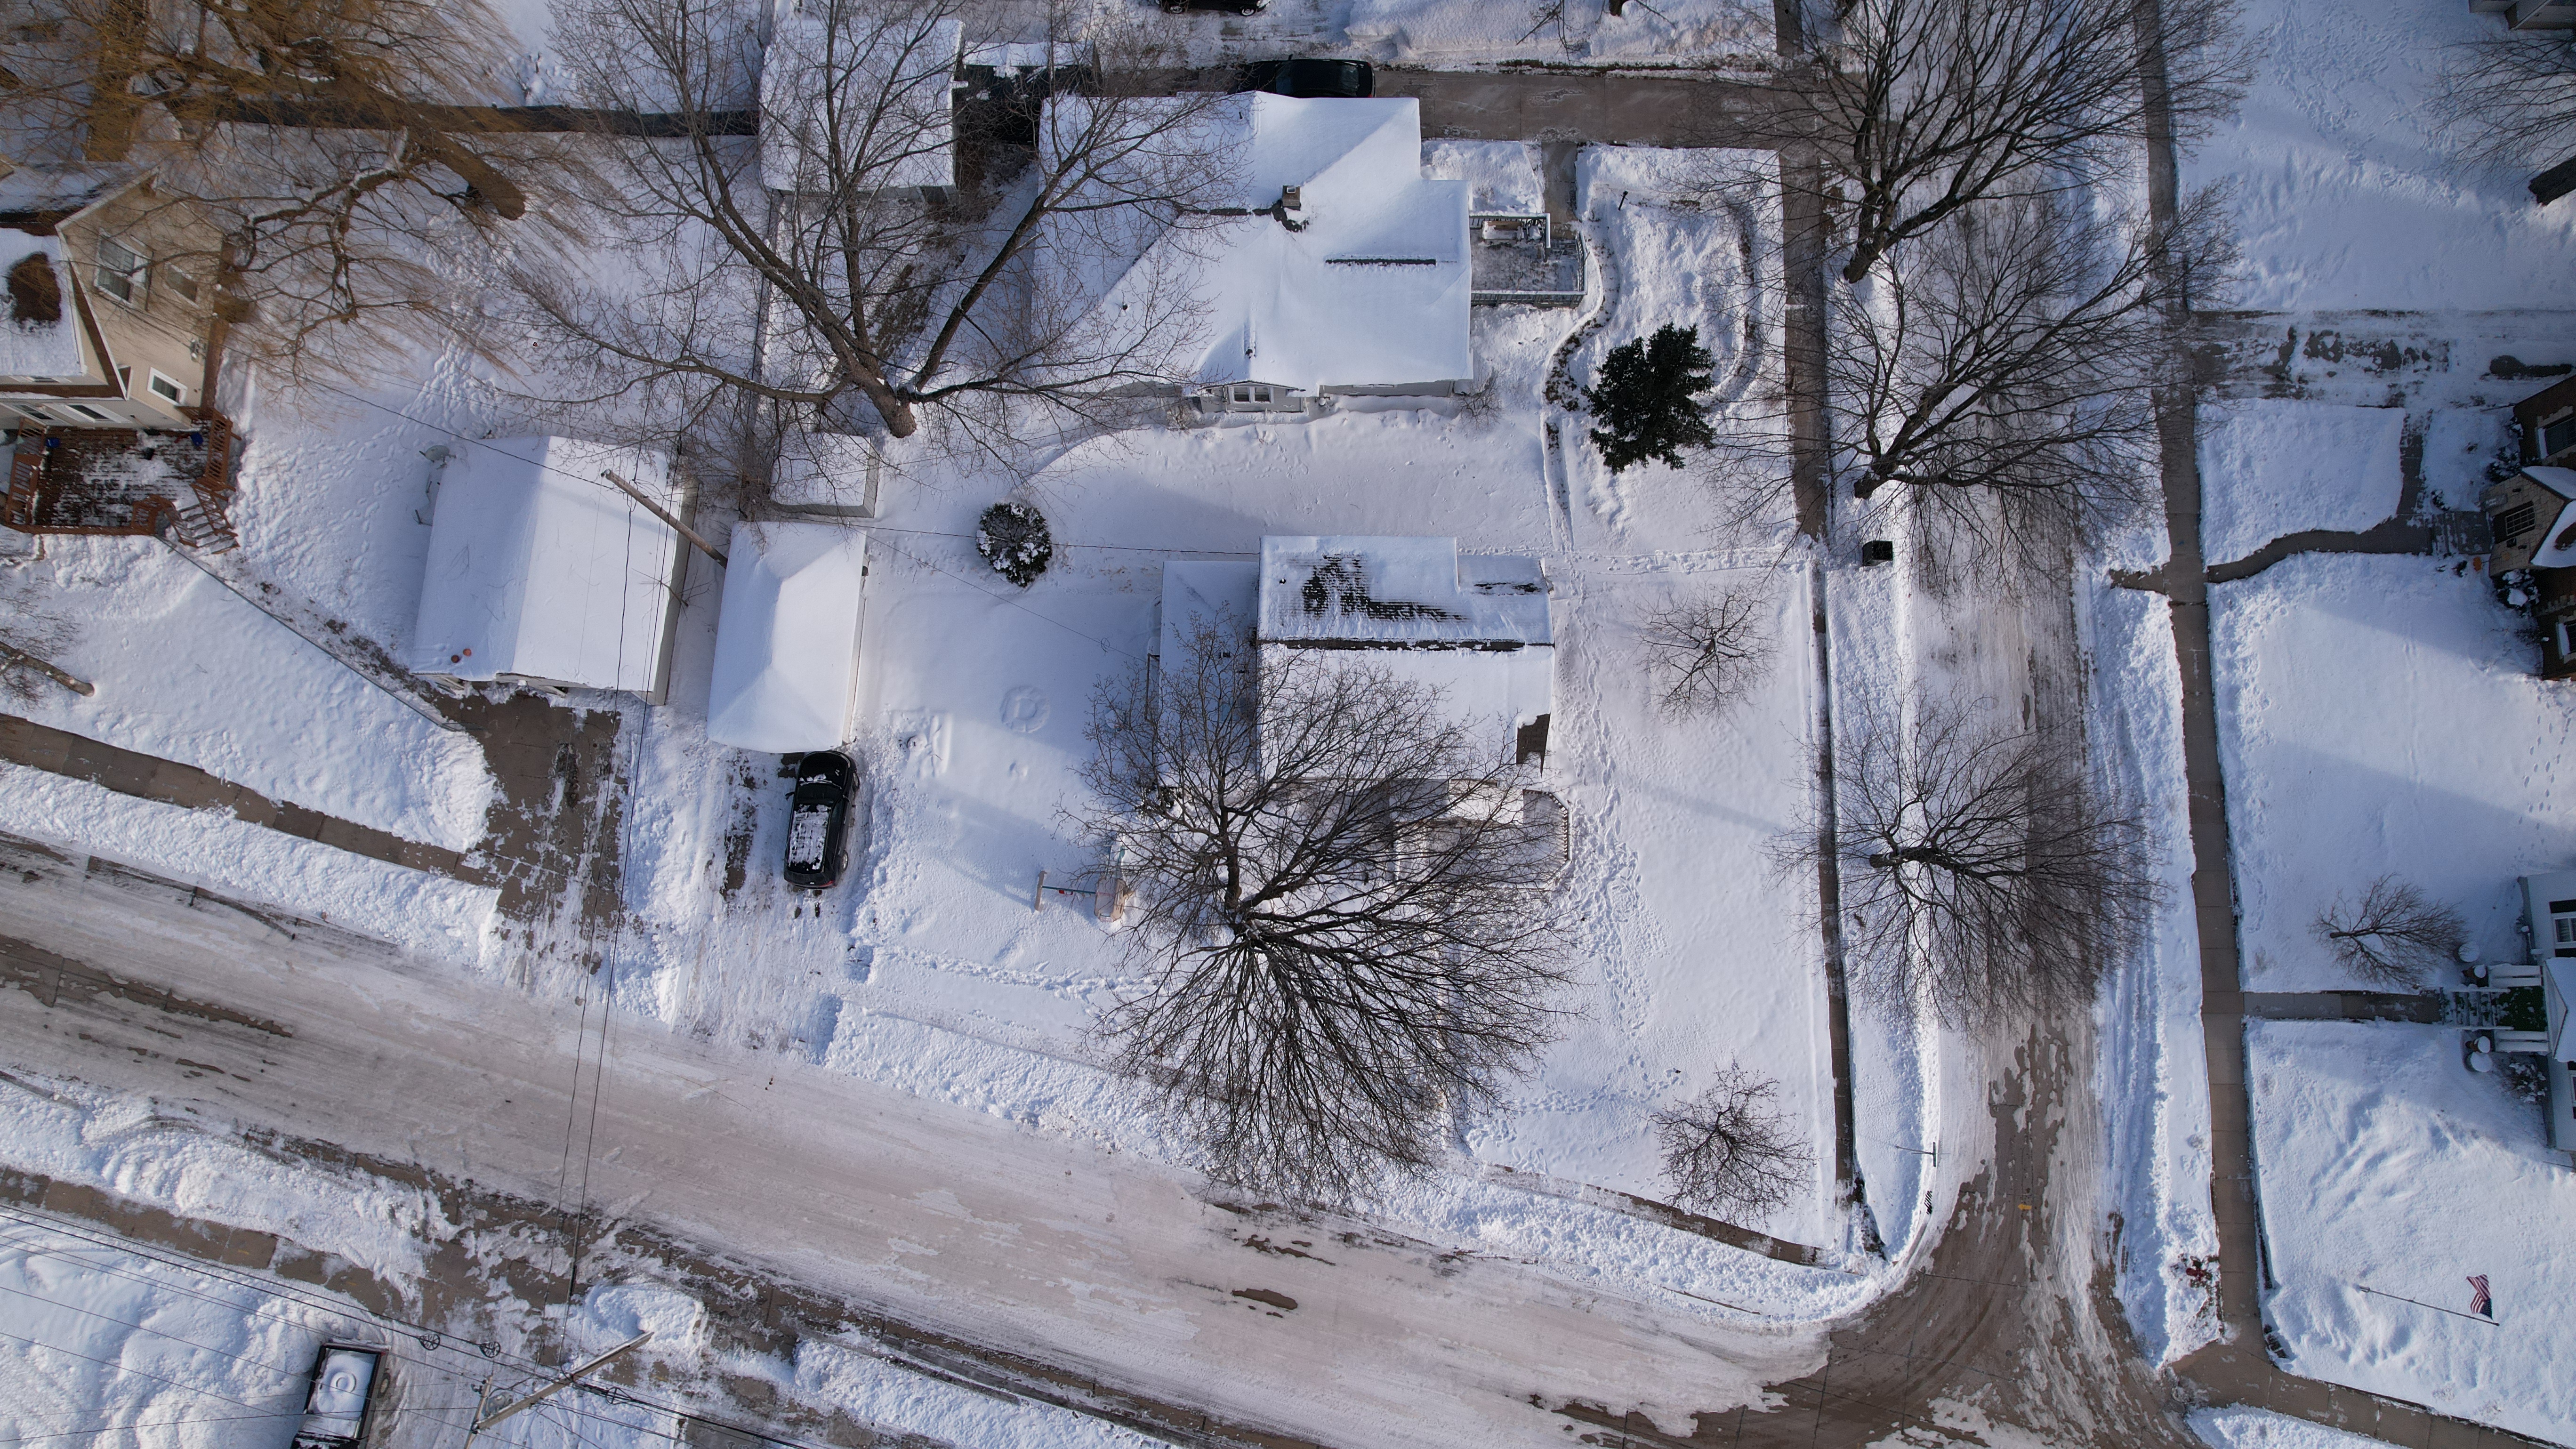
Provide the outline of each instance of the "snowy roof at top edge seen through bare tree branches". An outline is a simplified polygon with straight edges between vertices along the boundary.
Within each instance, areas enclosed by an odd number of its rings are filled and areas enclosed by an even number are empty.
[[[966,28],[876,21],[835,0],[799,0],[778,15],[760,57],[760,180],[770,191],[850,183],[835,175],[835,152],[868,191],[956,186],[951,88]]]

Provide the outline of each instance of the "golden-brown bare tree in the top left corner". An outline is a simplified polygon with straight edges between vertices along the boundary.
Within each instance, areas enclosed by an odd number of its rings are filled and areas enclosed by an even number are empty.
[[[567,152],[497,111],[507,34],[482,0],[33,0],[0,93],[41,155],[152,165],[155,204],[204,222],[155,260],[301,371],[456,320],[456,258],[551,219]]]

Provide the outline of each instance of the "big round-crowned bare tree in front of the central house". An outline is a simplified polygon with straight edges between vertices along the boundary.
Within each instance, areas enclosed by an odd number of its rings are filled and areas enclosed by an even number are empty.
[[[1216,619],[1090,737],[1144,975],[1100,1031],[1216,1176],[1329,1201],[1422,1171],[1553,1036],[1561,815],[1435,691]]]

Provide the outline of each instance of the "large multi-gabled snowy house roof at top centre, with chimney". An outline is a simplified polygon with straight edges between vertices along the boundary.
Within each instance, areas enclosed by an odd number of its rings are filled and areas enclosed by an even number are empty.
[[[1193,276],[1206,309],[1200,345],[1177,358],[1190,384],[1267,382],[1311,394],[1476,376],[1468,186],[1422,175],[1417,101],[1231,95],[1213,108],[1206,144],[1234,170],[1231,193],[1211,209],[1249,214],[1154,242],[1164,253],[1157,263]],[[1293,209],[1283,206],[1288,188]],[[1162,315],[1136,297],[1159,286],[1162,266],[1131,268],[1103,317],[1128,304]]]

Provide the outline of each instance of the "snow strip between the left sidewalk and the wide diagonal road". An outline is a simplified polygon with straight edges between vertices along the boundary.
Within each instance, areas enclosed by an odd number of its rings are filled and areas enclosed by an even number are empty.
[[[489,887],[26,766],[0,766],[0,830],[283,905],[446,962],[482,957],[500,902]]]

